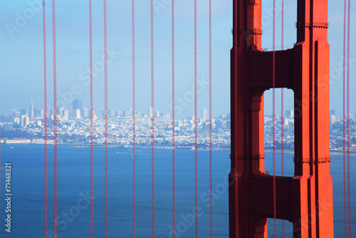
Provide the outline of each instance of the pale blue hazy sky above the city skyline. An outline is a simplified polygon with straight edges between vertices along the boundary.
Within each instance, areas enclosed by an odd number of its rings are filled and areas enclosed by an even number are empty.
[[[136,0],[136,95],[137,110],[150,107],[150,1]],[[232,1],[213,2],[213,116],[229,113],[230,54],[232,46]],[[38,4],[40,3],[40,4]],[[263,1],[263,48],[272,49],[272,4]],[[180,0],[175,6],[176,105],[177,118],[194,115],[194,1]],[[155,0],[155,108],[172,111],[172,1]],[[329,2],[330,108],[342,116],[343,3]],[[354,6],[351,39],[355,38]],[[88,86],[89,13],[88,0],[56,1],[58,103],[71,109],[71,100],[90,103]],[[43,108],[43,21],[40,0],[0,2],[0,113],[9,109]],[[281,48],[281,1],[276,9],[276,47]],[[295,43],[296,1],[285,0],[285,48]],[[52,3],[46,1],[48,103],[53,103]],[[351,45],[351,89],[355,88],[356,49]],[[108,0],[109,109],[132,107],[131,1]],[[102,58],[103,1],[93,0],[94,107],[104,108]],[[209,108],[209,1],[198,0],[198,111]],[[276,90],[276,111],[280,111]],[[351,93],[350,101],[355,101]],[[181,100],[178,100],[181,98]],[[293,92],[287,90],[285,108],[291,109]],[[266,93],[266,114],[271,114],[271,92]],[[356,105],[350,103],[350,112]]]

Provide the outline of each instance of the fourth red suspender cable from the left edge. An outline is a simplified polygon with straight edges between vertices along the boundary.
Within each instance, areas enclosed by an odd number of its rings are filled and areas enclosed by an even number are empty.
[[[105,57],[105,237],[108,238],[108,19],[104,0],[104,57]]]

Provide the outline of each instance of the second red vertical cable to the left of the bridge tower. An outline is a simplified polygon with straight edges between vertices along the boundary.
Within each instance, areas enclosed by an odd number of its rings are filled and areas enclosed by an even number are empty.
[[[194,154],[195,154],[195,237],[198,238],[198,125],[197,125],[197,0],[194,0]]]

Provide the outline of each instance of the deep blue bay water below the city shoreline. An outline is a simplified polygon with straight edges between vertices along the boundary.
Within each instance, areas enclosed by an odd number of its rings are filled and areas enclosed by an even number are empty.
[[[11,148],[11,146],[13,148]],[[43,145],[1,145],[0,237],[44,237]],[[132,237],[132,149],[109,148],[109,237]],[[105,234],[105,150],[94,148],[94,237]],[[285,153],[285,175],[293,176],[293,154]],[[267,153],[266,170],[273,172]],[[137,150],[137,237],[151,237],[151,150]],[[277,153],[277,165],[281,155]],[[11,162],[11,234],[5,232],[6,162]],[[213,152],[214,237],[229,237],[229,203],[226,175],[229,152]],[[356,182],[355,157],[351,157],[351,189]],[[277,175],[281,167],[276,168]],[[333,156],[335,237],[344,234],[342,156]],[[209,151],[198,152],[199,237],[209,237]],[[58,146],[58,237],[90,237],[90,148]],[[351,216],[355,214],[355,190],[351,191]],[[194,237],[194,151],[176,152],[177,237]],[[352,232],[355,218],[352,217]],[[273,236],[273,219],[268,219]],[[281,221],[277,223],[281,237]],[[53,229],[53,146],[48,146],[48,238]],[[286,237],[292,225],[286,222]],[[172,237],[172,151],[155,150],[155,237]],[[353,233],[352,235],[356,235]]]

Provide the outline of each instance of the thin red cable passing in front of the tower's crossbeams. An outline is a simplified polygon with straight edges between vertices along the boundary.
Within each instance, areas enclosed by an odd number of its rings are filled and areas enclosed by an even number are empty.
[[[273,222],[274,222],[274,237],[277,237],[276,231],[276,0],[273,0]]]

